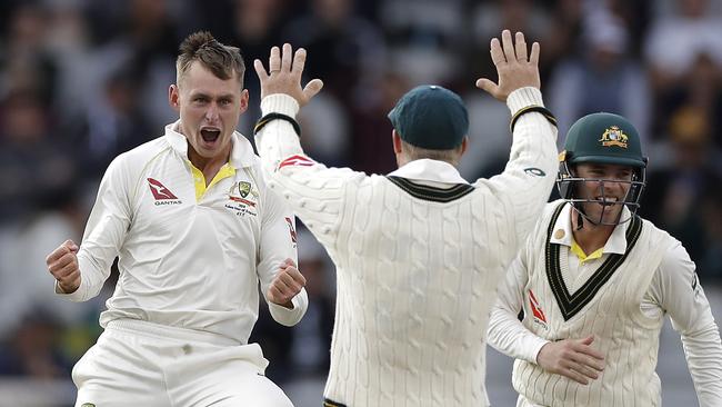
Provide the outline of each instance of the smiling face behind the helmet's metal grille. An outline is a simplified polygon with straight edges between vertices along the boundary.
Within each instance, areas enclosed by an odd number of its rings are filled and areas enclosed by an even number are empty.
[[[575,177],[593,180],[576,185],[576,198],[599,201],[582,204],[584,214],[592,220],[614,224],[624,208],[621,202],[624,202],[629,193],[633,175],[634,170],[629,166],[612,163],[578,165]]]

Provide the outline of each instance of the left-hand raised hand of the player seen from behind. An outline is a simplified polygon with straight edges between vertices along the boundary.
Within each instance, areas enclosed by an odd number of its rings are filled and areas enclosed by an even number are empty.
[[[304,106],[323,88],[320,79],[313,79],[301,88],[301,77],[305,66],[305,50],[299,48],[293,53],[290,43],[271,48],[269,71],[263,68],[260,59],[253,61],[253,68],[261,81],[261,99],[273,93],[285,93],[295,99],[299,106]]]

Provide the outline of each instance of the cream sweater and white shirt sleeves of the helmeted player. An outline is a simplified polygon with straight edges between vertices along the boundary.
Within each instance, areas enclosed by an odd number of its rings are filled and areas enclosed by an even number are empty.
[[[550,224],[561,202],[548,205],[512,262],[489,322],[489,343],[518,358],[513,384],[527,405],[659,406],[660,380],[654,369],[666,314],[682,335],[700,405],[722,405],[719,329],[696,281],[694,264],[681,244],[641,220],[639,239],[625,255],[631,241],[626,235],[633,230],[628,222],[614,229],[601,258],[581,264],[569,249],[573,241],[570,206],[561,207]],[[559,248],[558,261],[552,262],[545,259],[550,230],[550,245]],[[612,256],[626,257],[603,281],[598,270]],[[550,269],[550,264],[559,267]],[[556,271],[550,279],[550,272]],[[593,286],[599,290],[589,291]],[[571,301],[560,297],[560,287],[565,287]],[[520,322],[517,315],[522,308]],[[589,335],[594,335],[592,347],[604,354],[606,364],[600,378],[589,385],[549,374],[535,364],[548,341]]]

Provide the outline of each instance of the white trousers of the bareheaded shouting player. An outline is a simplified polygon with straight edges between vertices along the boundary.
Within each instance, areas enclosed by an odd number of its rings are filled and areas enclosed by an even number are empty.
[[[72,370],[76,407],[292,407],[258,344],[119,319]]]

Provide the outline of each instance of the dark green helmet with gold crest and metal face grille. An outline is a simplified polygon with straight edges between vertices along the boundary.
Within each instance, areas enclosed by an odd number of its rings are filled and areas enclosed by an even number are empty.
[[[603,202],[574,196],[574,186],[589,180],[576,177],[574,166],[578,163],[612,163],[632,167],[634,172],[629,192],[624,200],[618,205],[628,206],[632,215],[639,209],[639,201],[646,179],[646,157],[642,156],[639,131],[625,118],[601,112],[586,115],[576,120],[566,133],[564,150],[559,155],[559,161],[556,178],[559,193],[581,215],[585,216],[580,204]],[[611,180],[605,182],[611,182]],[[599,221],[589,220],[594,224],[603,224],[601,219]],[[621,222],[620,219],[614,225],[619,222]]]

